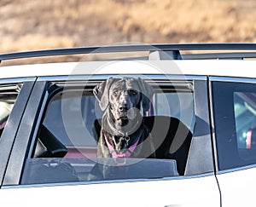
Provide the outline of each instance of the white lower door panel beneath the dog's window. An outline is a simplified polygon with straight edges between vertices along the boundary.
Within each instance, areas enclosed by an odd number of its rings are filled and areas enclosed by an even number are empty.
[[[182,178],[182,177],[181,177]],[[56,195],[57,193],[57,195]],[[15,205],[31,200],[26,206],[34,206],[42,196],[48,204],[70,206],[219,206],[220,196],[214,175],[195,178],[164,179],[159,181],[117,181],[64,185],[52,187],[4,187],[0,191],[2,204]],[[15,199],[12,195],[16,195]],[[33,202],[34,201],[34,202]]]

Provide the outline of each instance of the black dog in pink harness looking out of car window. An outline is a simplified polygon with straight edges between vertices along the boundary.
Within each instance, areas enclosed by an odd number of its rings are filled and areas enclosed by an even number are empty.
[[[148,111],[154,89],[141,78],[108,78],[94,95],[104,111],[98,158],[154,158],[154,144],[141,110]]]

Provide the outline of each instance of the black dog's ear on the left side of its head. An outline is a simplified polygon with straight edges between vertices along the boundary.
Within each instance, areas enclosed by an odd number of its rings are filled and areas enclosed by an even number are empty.
[[[96,96],[97,101],[99,101],[102,111],[105,111],[108,107],[108,91],[112,83],[113,78],[108,78],[108,80],[99,83],[93,89],[93,94]]]

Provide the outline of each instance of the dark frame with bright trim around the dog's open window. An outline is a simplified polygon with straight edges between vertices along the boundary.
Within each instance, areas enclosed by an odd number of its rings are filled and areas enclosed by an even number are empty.
[[[99,78],[108,78],[110,76],[99,76]],[[205,176],[205,175],[214,175],[214,166],[213,166],[213,157],[212,157],[212,137],[211,137],[211,129],[210,129],[210,118],[209,118],[209,107],[208,107],[208,88],[207,88],[207,77],[205,76],[164,76],[164,75],[148,75],[149,78],[156,78],[156,79],[164,79],[164,78],[171,78],[173,80],[189,80],[193,81],[193,84],[195,86],[194,90],[194,99],[195,101],[195,118],[196,123],[195,124],[195,137],[193,141],[193,158],[190,159],[188,162],[190,162],[190,166],[192,164],[195,164],[195,158],[202,158],[203,162],[206,162],[206,164],[201,165],[201,170],[195,170],[196,168],[190,170],[187,172],[186,175],[184,175],[186,178],[188,177],[195,177],[195,176]],[[78,80],[84,80],[87,77],[84,76],[74,76],[72,78],[70,77],[44,77],[44,78],[38,78],[37,82],[35,83],[34,89],[32,90],[32,95],[30,97],[30,100],[28,102],[28,106],[34,106],[30,112],[25,112],[24,120],[22,120],[20,124],[20,129],[22,128],[22,125],[26,125],[25,119],[29,115],[32,117],[32,126],[27,129],[26,134],[26,141],[15,141],[14,148],[18,149],[20,153],[17,152],[17,150],[13,150],[9,162],[9,166],[7,169],[7,176],[4,178],[3,186],[4,187],[10,187],[10,186],[22,186],[20,185],[20,178],[22,176],[22,167],[23,164],[26,162],[26,156],[31,153],[31,147],[28,145],[29,143],[33,143],[35,140],[35,135],[37,134],[37,128],[38,124],[40,123],[40,116],[42,116],[44,112],[44,107],[46,106],[46,100],[48,98],[47,93],[47,87],[49,86],[50,82],[65,82],[65,81],[78,81]],[[91,77],[90,77],[91,78]],[[96,77],[94,77],[96,78]],[[26,126],[27,127],[27,126]],[[36,132],[35,132],[36,131]],[[20,133],[22,134],[22,133]],[[21,137],[24,135],[18,135],[19,140],[22,139]],[[203,150],[201,150],[200,153],[195,152],[195,148],[198,147],[198,145],[201,145],[201,141],[204,141],[204,144],[207,144],[206,147],[203,147]],[[192,147],[191,147],[192,148]],[[190,152],[189,152],[190,153]],[[17,160],[17,156],[20,157],[19,160]],[[17,165],[17,162],[19,164]],[[199,162],[197,162],[199,164]],[[179,176],[179,179],[181,179],[182,176]],[[173,178],[175,179],[175,178]],[[150,181],[150,179],[148,179]],[[104,182],[104,181],[101,181]],[[80,183],[80,182],[79,182]],[[91,181],[90,181],[91,183]],[[55,183],[60,184],[60,183]],[[64,183],[65,184],[65,183]],[[33,184],[33,186],[38,185],[44,185],[44,184]],[[63,183],[61,183],[63,185]]]

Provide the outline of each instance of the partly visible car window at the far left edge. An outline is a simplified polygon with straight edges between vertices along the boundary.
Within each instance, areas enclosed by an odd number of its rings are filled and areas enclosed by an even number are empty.
[[[21,85],[0,85],[0,137],[8,122],[9,114],[15,104]]]

